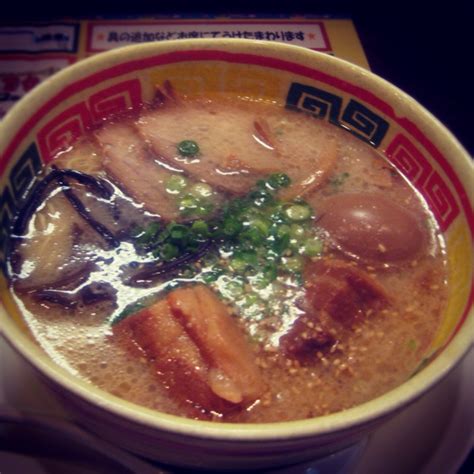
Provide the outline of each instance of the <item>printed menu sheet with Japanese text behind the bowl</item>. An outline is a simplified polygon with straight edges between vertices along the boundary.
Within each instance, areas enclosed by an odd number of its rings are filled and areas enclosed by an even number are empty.
[[[349,19],[172,17],[0,24],[0,119],[34,86],[82,58],[130,44],[193,38],[276,41],[369,68]]]

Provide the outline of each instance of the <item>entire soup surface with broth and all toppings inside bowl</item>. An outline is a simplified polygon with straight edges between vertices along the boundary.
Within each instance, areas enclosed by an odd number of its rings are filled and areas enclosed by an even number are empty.
[[[61,152],[17,218],[11,285],[45,352],[216,421],[321,416],[407,380],[447,298],[422,197],[307,115],[158,99]]]

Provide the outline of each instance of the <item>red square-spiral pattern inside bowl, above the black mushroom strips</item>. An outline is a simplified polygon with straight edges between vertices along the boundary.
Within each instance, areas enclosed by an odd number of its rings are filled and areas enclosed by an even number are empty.
[[[44,163],[72,145],[93,125],[111,114],[135,110],[142,103],[139,79],[114,84],[72,105],[51,119],[38,132],[38,146]]]

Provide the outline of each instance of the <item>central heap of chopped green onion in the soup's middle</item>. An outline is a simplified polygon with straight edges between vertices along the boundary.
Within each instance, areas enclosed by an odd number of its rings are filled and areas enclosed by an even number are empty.
[[[130,235],[137,249],[141,245],[158,265],[196,252],[205,240],[212,239],[211,251],[188,267],[181,266],[179,276],[212,284],[237,307],[246,308],[245,317],[263,317],[268,308],[262,305],[280,291],[279,275],[285,281],[302,284],[305,257],[322,251],[322,243],[311,230],[311,207],[300,200],[283,202],[277,196],[277,190],[289,184],[286,175],[275,173],[257,182],[244,197],[227,200],[219,213],[205,218],[201,216],[217,205],[213,188],[172,175],[166,182],[167,190],[176,195],[181,215],[196,220],[166,226],[153,221],[133,228]],[[143,244],[139,244],[140,239]],[[258,294],[244,291],[248,285]]]

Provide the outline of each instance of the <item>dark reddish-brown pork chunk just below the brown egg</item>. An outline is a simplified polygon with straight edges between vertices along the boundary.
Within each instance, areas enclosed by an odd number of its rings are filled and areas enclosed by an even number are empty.
[[[283,350],[306,358],[344,338],[369,314],[387,307],[390,296],[364,270],[328,258],[305,269],[306,297],[302,314],[280,339]]]

